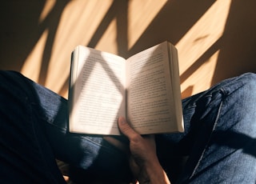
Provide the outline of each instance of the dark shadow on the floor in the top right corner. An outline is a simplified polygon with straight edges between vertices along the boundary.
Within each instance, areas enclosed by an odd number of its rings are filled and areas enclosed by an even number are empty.
[[[254,0],[231,2],[212,85],[245,72],[256,73],[255,6]]]

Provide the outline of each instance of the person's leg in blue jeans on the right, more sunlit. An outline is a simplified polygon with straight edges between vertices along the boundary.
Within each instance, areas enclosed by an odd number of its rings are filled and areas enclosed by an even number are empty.
[[[170,178],[175,157],[187,155],[178,183],[255,183],[255,91],[256,75],[243,74],[183,100],[185,133],[157,138]]]

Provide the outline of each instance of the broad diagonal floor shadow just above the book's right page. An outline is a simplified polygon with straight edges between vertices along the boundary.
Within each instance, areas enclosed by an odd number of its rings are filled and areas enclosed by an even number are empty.
[[[174,45],[190,30],[215,1],[167,1],[126,57],[166,40]],[[155,35],[155,36],[152,36]]]

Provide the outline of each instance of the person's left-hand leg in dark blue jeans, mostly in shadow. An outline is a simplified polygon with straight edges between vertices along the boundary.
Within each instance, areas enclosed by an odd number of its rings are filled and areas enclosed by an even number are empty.
[[[65,98],[10,71],[0,72],[0,88],[0,167],[6,168],[0,174],[59,179],[58,158],[82,172],[80,179],[87,182],[130,178],[122,151],[101,136],[69,133]]]

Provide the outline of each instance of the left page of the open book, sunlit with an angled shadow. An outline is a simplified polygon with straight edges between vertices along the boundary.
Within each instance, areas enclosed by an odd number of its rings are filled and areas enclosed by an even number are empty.
[[[120,134],[118,116],[125,116],[125,60],[113,54],[80,47],[73,70],[76,76],[70,131]],[[78,54],[79,52],[79,54]]]

